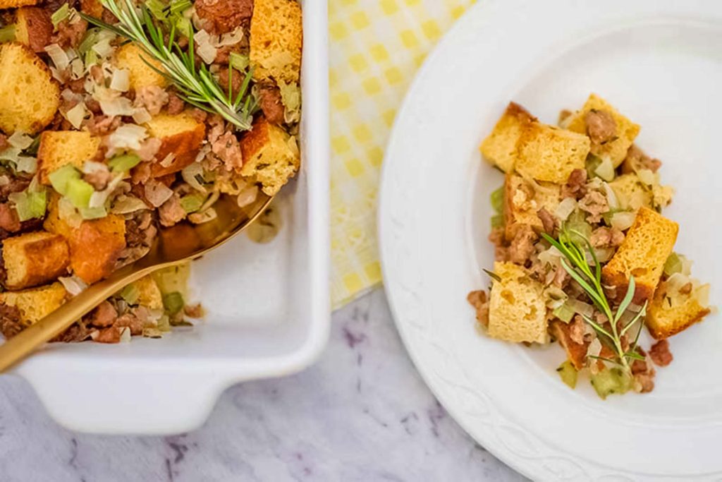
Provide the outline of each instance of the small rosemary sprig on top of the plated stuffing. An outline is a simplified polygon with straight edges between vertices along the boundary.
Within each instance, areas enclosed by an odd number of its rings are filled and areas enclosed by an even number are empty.
[[[560,231],[558,239],[554,239],[546,233],[541,233],[541,236],[543,236],[544,239],[549,241],[549,244],[552,244],[552,246],[564,255],[564,258],[561,259],[562,267],[567,273],[569,273],[573,280],[581,286],[587,296],[591,299],[594,306],[596,306],[596,308],[604,314],[606,319],[609,320],[610,328],[607,330],[601,326],[601,324],[591,319],[591,317],[584,314],[581,315],[584,321],[587,322],[598,335],[600,335],[599,339],[604,341],[609,348],[614,350],[614,355],[617,359],[612,360],[601,356],[590,356],[590,358],[616,363],[617,365],[622,366],[622,369],[624,369],[627,374],[631,375],[629,360],[644,359],[643,356],[640,356],[640,354],[637,353],[637,344],[640,333],[642,332],[642,324],[639,324],[635,340],[630,345],[629,350],[625,351],[624,348],[622,348],[622,337],[627,334],[634,324],[645,316],[647,308],[646,301],[642,306],[642,309],[640,309],[640,311],[635,314],[634,317],[632,317],[632,319],[621,328],[621,330],[617,325],[619,324],[619,320],[622,319],[622,315],[625,314],[625,311],[627,311],[632,303],[632,298],[634,298],[634,277],[630,276],[627,293],[622,299],[622,303],[617,306],[616,310],[612,311],[612,305],[609,304],[609,300],[606,298],[606,293],[604,293],[604,288],[601,285],[601,263],[599,262],[599,259],[597,259],[596,253],[594,252],[593,246],[591,246],[589,240],[582,233],[567,230],[565,228],[562,228]],[[575,238],[581,239],[583,244],[575,241]],[[594,263],[593,269],[587,262],[587,251],[591,255],[591,259]]]

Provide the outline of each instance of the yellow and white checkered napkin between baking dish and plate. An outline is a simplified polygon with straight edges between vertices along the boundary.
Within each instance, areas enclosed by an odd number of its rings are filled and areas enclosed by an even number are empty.
[[[331,299],[381,281],[376,197],[383,149],[414,74],[474,0],[329,0]]]

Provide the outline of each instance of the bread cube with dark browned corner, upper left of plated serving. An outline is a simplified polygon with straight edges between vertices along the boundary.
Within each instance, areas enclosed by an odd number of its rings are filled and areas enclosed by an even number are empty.
[[[510,102],[492,133],[479,146],[479,150],[492,165],[496,165],[505,173],[510,173],[514,170],[517,158],[516,145],[521,133],[535,122],[536,117],[525,108]]]

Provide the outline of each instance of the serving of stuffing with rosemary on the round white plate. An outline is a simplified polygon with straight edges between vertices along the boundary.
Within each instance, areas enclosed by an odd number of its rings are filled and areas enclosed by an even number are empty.
[[[510,103],[480,147],[505,181],[491,194],[492,282],[468,296],[478,325],[514,343],[556,340],[562,381],[585,374],[602,398],[653,390],[654,366],[672,361],[667,339],[711,311],[710,286],[674,252],[679,226],[661,215],[674,193],[634,144],[639,131],[592,94],[559,126]]]

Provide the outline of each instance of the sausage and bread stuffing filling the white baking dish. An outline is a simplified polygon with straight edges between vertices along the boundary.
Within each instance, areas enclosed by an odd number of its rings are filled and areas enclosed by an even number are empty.
[[[0,0],[0,331],[143,257],[160,228],[273,196],[300,167],[296,0]],[[56,337],[117,343],[201,317],[188,266]]]

